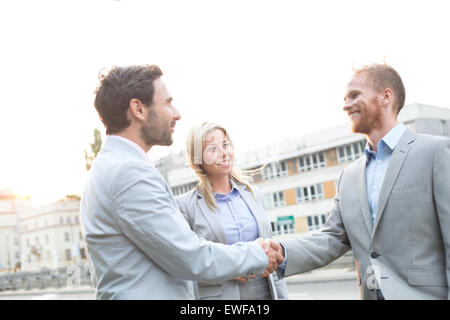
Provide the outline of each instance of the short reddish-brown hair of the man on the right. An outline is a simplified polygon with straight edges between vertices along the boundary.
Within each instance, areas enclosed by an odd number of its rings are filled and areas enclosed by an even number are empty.
[[[402,78],[394,68],[386,63],[376,63],[354,70],[354,73],[365,74],[378,92],[390,88],[394,93],[394,110],[398,115],[405,104],[406,93]]]

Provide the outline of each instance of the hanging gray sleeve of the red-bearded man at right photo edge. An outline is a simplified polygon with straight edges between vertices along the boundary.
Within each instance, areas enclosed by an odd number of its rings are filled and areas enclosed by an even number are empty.
[[[450,288],[450,139],[440,142],[434,152],[433,194],[444,242],[447,286]],[[447,298],[450,300],[450,291]]]

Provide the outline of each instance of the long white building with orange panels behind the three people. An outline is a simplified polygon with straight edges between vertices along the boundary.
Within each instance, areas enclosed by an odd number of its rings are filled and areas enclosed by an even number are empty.
[[[448,137],[450,109],[411,104],[403,108],[399,121],[417,133]],[[310,234],[322,228],[333,207],[340,173],[364,155],[366,143],[365,136],[352,133],[348,123],[254,150],[241,155],[241,161],[236,160],[243,170],[265,165],[252,182],[263,194],[275,238]],[[194,188],[198,180],[186,161],[175,169],[162,165],[174,157],[160,159],[156,167],[171,168],[160,172],[174,195],[179,195]],[[177,162],[181,163],[179,157]]]

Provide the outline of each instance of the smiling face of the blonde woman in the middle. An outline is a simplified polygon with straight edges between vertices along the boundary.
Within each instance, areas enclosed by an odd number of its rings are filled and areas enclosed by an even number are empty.
[[[209,131],[203,143],[203,170],[209,177],[229,176],[233,163],[233,147],[225,133],[220,129]]]

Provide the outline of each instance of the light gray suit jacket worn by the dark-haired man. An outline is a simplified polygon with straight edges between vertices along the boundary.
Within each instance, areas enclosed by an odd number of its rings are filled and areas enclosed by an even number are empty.
[[[98,299],[193,299],[193,282],[262,273],[257,243],[198,237],[155,167],[124,141],[109,139],[89,172],[81,203]]]

